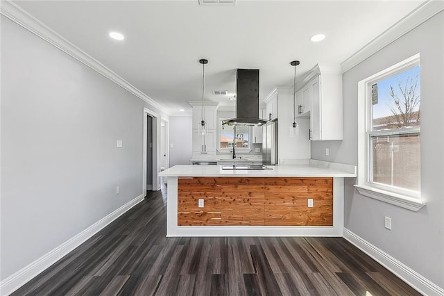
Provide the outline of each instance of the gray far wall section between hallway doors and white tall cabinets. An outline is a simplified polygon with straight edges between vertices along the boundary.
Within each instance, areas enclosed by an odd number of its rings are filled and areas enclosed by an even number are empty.
[[[191,116],[169,117],[169,166],[191,165],[193,150],[193,120]],[[171,147],[173,145],[173,147]]]

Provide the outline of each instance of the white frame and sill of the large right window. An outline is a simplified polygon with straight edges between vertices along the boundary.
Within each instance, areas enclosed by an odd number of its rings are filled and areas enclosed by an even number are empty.
[[[400,74],[407,69],[419,65],[420,55],[416,54],[402,60],[387,69],[378,72],[358,83],[358,178],[355,187],[361,195],[378,199],[388,204],[408,208],[411,211],[419,211],[425,203],[422,202],[420,192],[407,190],[404,188],[395,188],[386,186],[382,183],[370,182],[370,176],[373,166],[371,158],[370,137],[374,135],[403,135],[407,133],[420,133],[419,127],[408,129],[395,129],[391,131],[371,131],[371,85],[376,81],[380,81],[388,76]]]

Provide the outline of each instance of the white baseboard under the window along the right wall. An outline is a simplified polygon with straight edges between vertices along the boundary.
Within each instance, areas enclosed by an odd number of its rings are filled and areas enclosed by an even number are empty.
[[[364,240],[364,238],[357,236],[352,231],[344,228],[343,237],[361,249],[362,252],[366,253],[368,256],[375,259],[375,261],[393,272],[393,274],[396,274],[397,277],[408,283],[412,288],[418,290],[419,293],[422,293],[423,295],[444,295],[443,288],[440,288],[432,281],[422,277],[418,272],[415,272],[404,263],[388,255],[386,252],[382,251],[382,249],[370,244],[370,242]]]

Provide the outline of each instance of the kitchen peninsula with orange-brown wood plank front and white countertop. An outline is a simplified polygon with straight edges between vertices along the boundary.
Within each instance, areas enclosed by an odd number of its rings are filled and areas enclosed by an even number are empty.
[[[223,170],[176,165],[167,177],[167,236],[342,236],[343,178],[323,161]]]

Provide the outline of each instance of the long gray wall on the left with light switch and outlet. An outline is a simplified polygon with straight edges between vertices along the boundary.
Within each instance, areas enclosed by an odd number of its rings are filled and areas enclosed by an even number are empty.
[[[1,16],[1,280],[142,194],[144,106]]]

